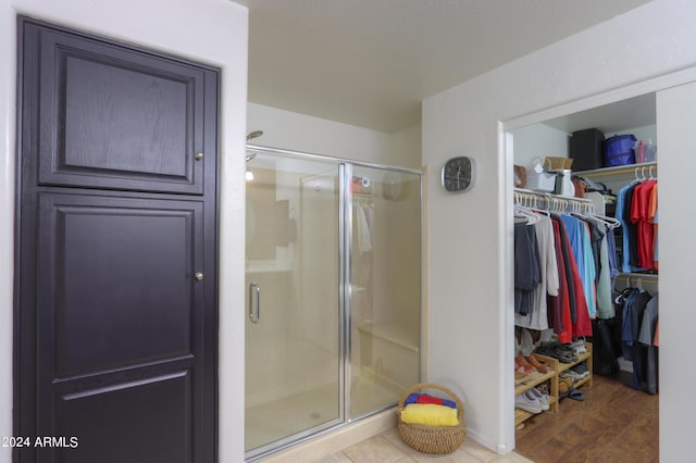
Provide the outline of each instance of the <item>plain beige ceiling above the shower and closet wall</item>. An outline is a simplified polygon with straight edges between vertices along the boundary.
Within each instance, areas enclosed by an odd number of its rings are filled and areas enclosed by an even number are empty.
[[[421,100],[648,0],[234,0],[251,102],[396,133]]]

